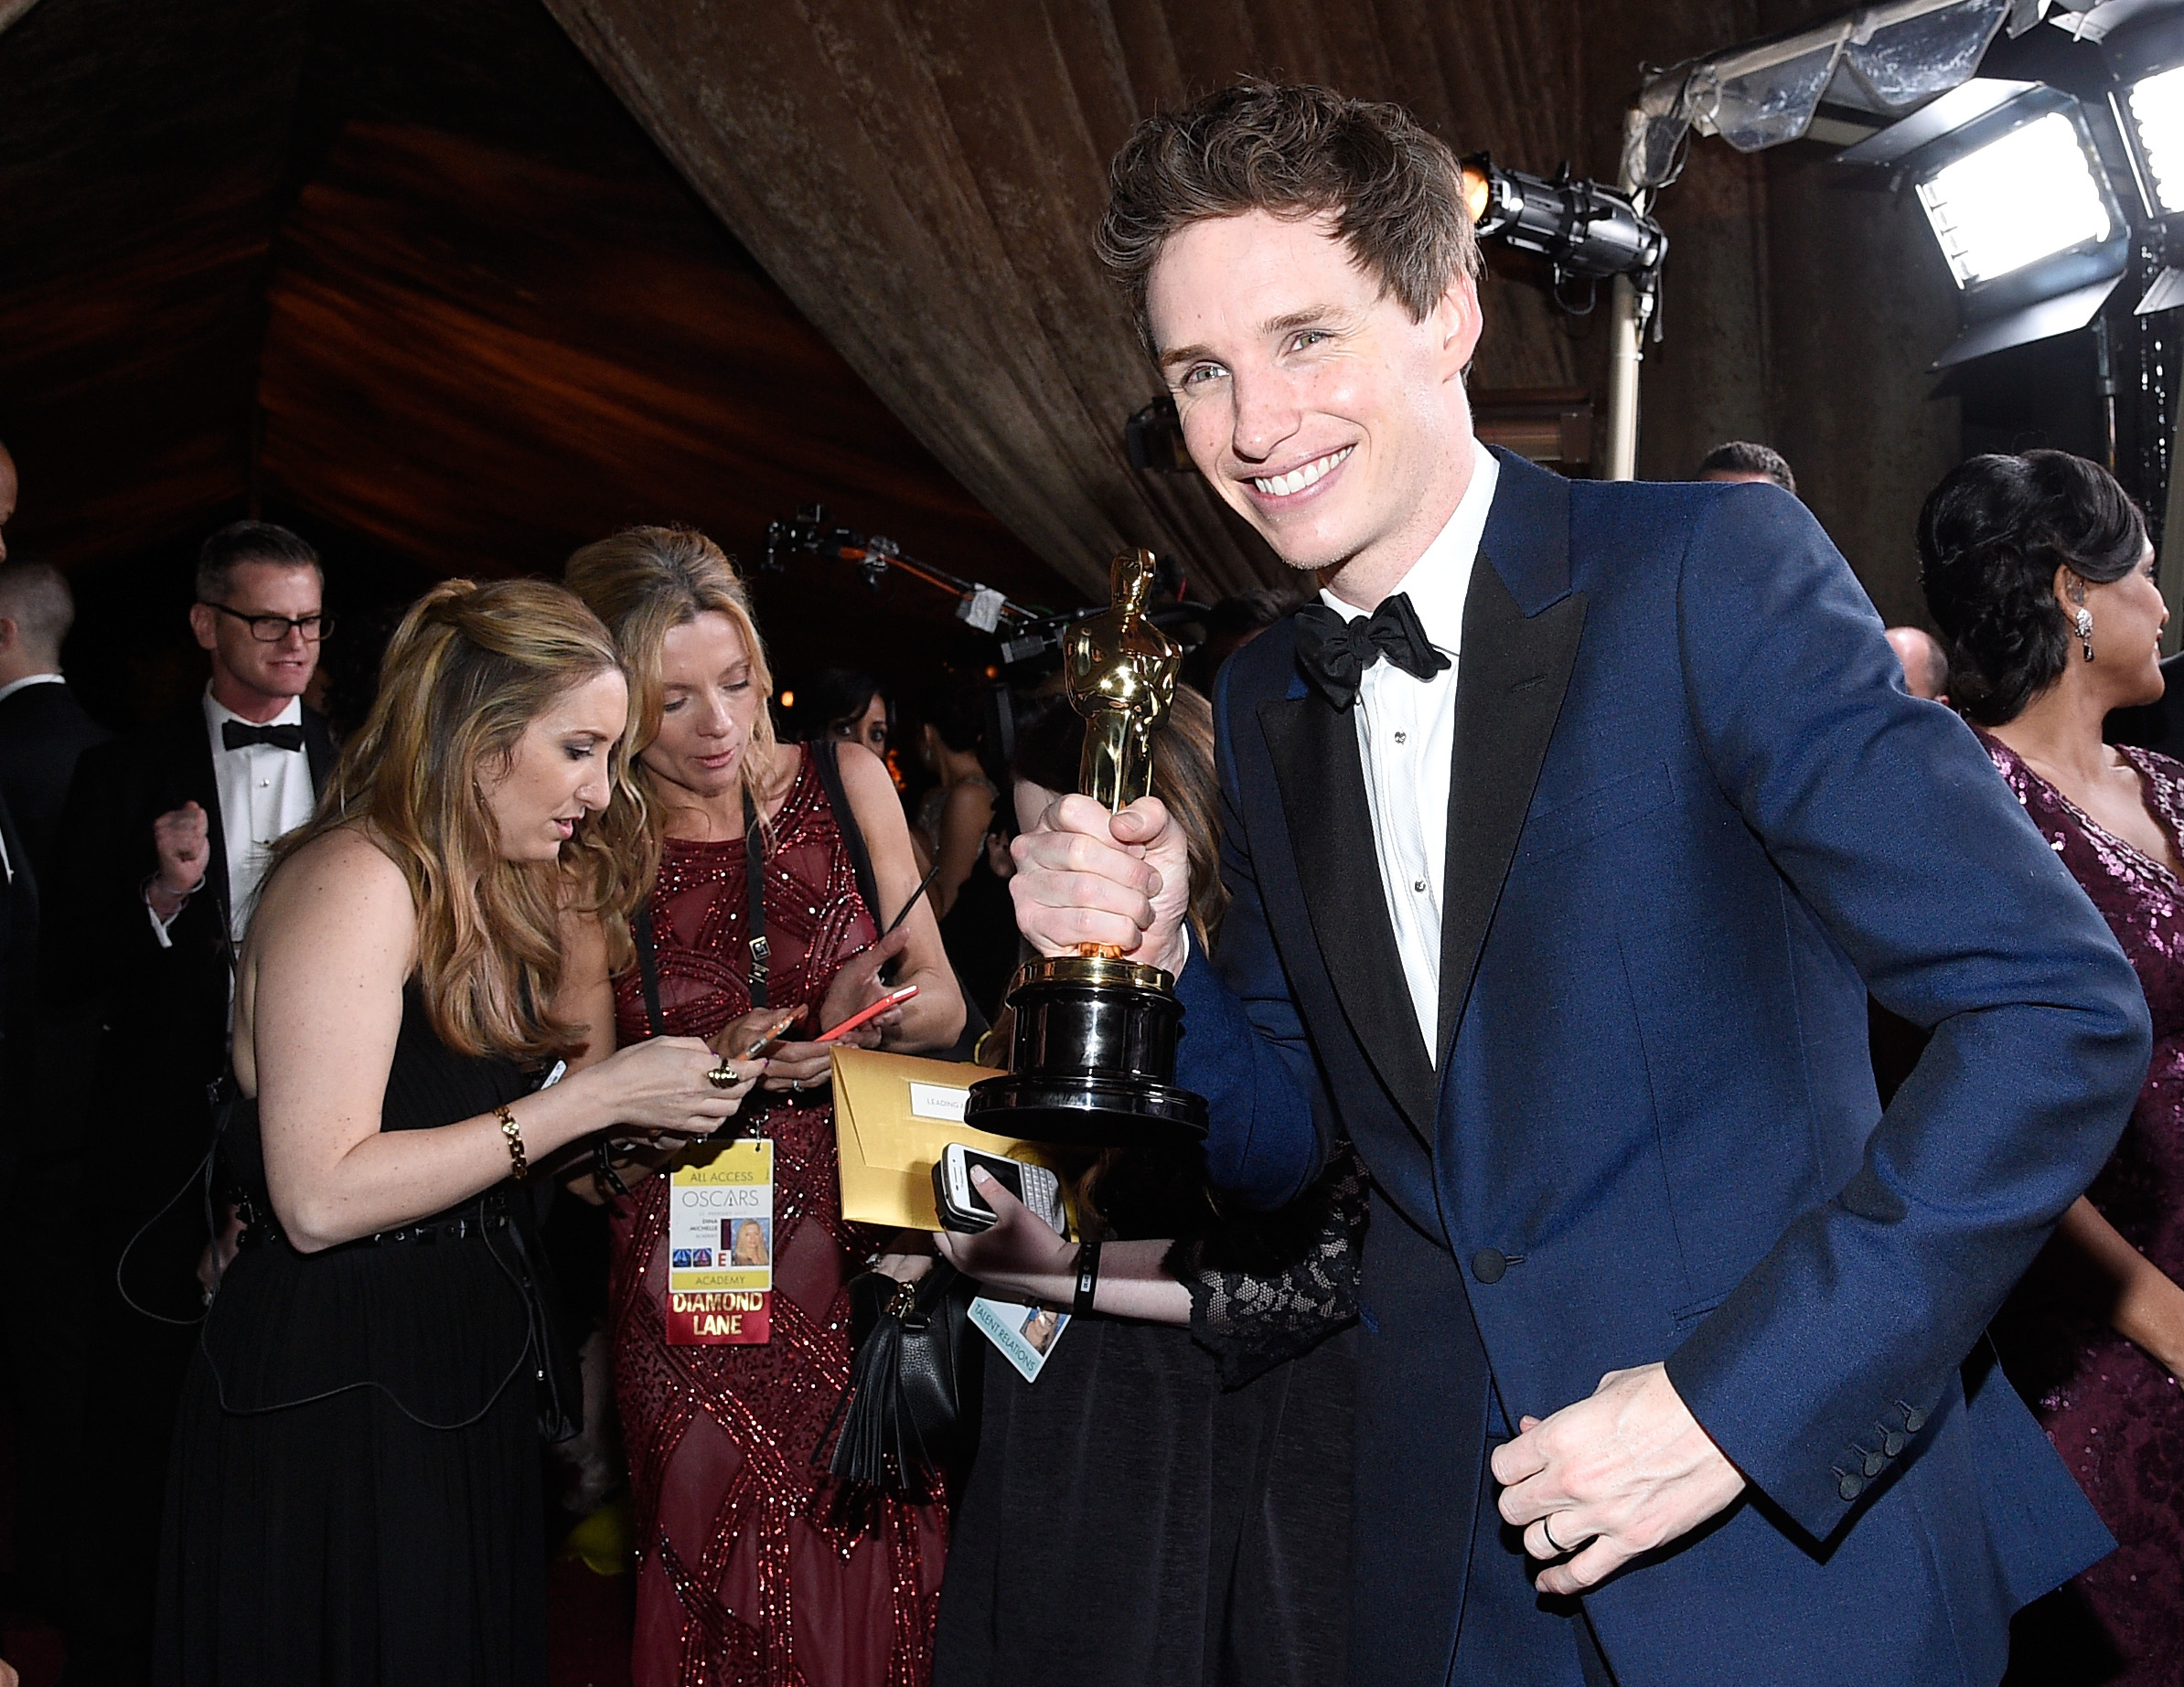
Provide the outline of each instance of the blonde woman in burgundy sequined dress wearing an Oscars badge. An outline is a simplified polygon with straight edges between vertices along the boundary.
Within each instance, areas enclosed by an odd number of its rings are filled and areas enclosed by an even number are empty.
[[[636,528],[577,552],[568,583],[614,631],[633,679],[651,814],[631,845],[660,851],[664,1030],[736,1056],[767,1017],[753,1013],[749,792],[764,838],[764,1000],[806,1008],[788,1037],[876,1000],[882,960],[900,956],[898,982],[917,984],[917,1000],[852,1041],[954,1041],[963,1002],[930,910],[874,943],[885,919],[858,895],[815,753],[773,742],[764,650],[727,559],[701,535]],[[839,749],[839,770],[893,914],[917,886],[893,781],[856,746]],[[614,1041],[655,1034],[636,971],[612,993]],[[603,1002],[590,1024],[601,1019]],[[843,1521],[812,1460],[850,1379],[843,1285],[887,1242],[843,1222],[826,1072],[828,1050],[806,1041],[775,1043],[764,1061],[773,1106],[751,1126],[773,1139],[775,1178],[762,1344],[668,1347],[666,1176],[622,1172],[633,1192],[614,1203],[612,1318],[642,1552],[638,1687],[917,1687],[930,1674],[943,1508],[880,1501]]]

